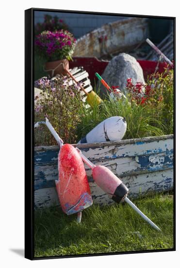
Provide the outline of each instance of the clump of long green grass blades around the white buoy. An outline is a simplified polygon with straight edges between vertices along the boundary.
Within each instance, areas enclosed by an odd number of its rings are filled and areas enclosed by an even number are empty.
[[[82,115],[81,123],[77,130],[79,139],[91,131],[98,123],[111,116],[126,118],[127,131],[124,139],[165,134],[163,122],[157,116],[155,109],[136,105],[134,102],[130,103],[128,98],[117,101],[107,98],[101,105],[89,108],[88,113],[82,111]]]

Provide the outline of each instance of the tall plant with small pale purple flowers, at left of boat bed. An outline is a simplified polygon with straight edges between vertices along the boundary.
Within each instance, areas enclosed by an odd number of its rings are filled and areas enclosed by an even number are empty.
[[[77,113],[83,105],[79,85],[69,85],[69,78],[63,75],[38,81],[41,93],[35,97],[34,121],[44,121],[47,117],[55,131],[64,142],[77,141],[76,127],[81,121],[80,113]],[[56,141],[49,130],[40,126],[35,130],[35,146],[56,145]]]

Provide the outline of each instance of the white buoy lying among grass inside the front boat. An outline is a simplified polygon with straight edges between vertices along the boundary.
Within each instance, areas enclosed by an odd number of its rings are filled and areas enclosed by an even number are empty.
[[[126,129],[127,123],[125,117],[112,116],[100,122],[78,143],[121,140],[126,133]]]

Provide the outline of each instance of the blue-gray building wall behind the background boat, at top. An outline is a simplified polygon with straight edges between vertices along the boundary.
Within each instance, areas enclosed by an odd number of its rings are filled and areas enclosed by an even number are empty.
[[[34,23],[36,24],[37,22],[43,22],[45,14],[57,16],[59,19],[63,19],[69,26],[70,31],[75,36],[75,38],[79,38],[86,33],[91,32],[98,27],[101,27],[105,23],[125,18],[120,16],[35,11]]]

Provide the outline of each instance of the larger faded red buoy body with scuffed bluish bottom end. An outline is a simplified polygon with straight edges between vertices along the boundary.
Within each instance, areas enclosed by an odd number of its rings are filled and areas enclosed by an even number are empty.
[[[70,215],[91,206],[93,201],[81,155],[70,144],[62,146],[59,152],[58,171],[56,189],[62,210]]]

